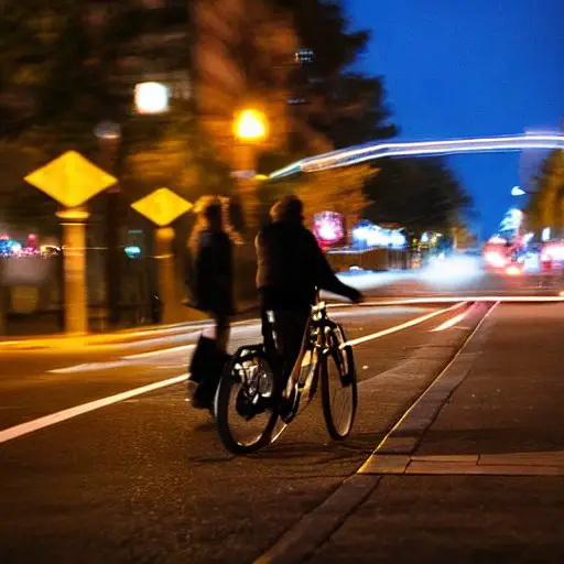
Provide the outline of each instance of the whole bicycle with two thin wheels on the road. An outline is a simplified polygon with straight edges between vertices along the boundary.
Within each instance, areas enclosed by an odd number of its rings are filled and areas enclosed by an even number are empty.
[[[329,319],[325,303],[312,307],[285,395],[269,356],[263,345],[240,347],[225,366],[214,402],[225,447],[250,454],[273,443],[299,414],[304,398],[306,404],[313,400],[319,381],[327,432],[335,441],[345,440],[358,402],[355,359],[344,328]]]

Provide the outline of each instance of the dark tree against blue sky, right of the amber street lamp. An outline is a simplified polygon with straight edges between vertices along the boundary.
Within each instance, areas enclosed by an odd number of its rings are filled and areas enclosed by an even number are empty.
[[[292,14],[300,40],[290,83],[294,149],[305,152],[308,138],[329,150],[393,137],[382,79],[351,70],[369,32],[349,30],[340,1],[272,2]]]

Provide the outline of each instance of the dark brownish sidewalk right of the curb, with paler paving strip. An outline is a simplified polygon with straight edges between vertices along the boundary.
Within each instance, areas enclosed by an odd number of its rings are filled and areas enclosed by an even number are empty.
[[[377,487],[311,562],[563,562],[563,318],[498,306],[357,475]]]

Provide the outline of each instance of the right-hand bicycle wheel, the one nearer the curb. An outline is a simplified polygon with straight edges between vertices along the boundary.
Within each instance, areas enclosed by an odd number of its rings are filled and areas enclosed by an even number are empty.
[[[336,325],[328,335],[329,347],[322,360],[322,405],[325,425],[334,441],[343,441],[352,430],[358,403],[357,377],[352,348],[346,343],[343,327]]]

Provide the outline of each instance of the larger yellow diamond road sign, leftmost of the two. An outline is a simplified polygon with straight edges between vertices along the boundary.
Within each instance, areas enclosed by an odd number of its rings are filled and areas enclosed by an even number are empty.
[[[77,207],[116,184],[117,178],[75,151],[68,151],[25,181],[66,207]]]

